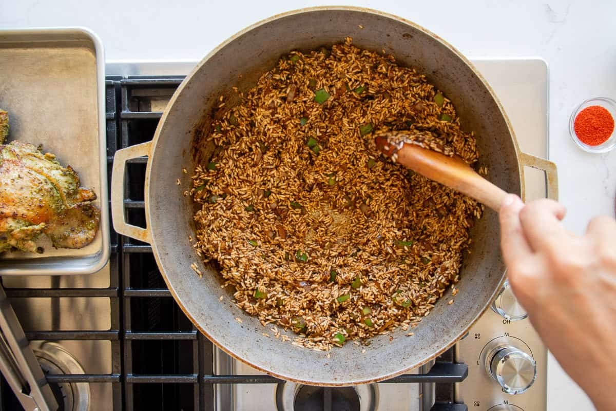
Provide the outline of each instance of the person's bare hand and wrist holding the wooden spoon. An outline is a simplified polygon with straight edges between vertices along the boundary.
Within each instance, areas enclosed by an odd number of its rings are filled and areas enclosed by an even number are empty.
[[[500,209],[509,284],[562,368],[599,411],[616,410],[616,221],[593,218],[583,236],[565,208],[509,194]]]

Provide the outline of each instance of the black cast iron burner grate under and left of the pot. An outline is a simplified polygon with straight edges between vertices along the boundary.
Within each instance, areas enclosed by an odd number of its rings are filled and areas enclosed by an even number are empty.
[[[109,181],[116,150],[152,139],[161,111],[182,78],[108,76],[106,119]],[[126,166],[126,218],[129,223],[138,226],[145,226],[146,162],[145,158],[136,158],[129,160]],[[111,373],[47,375],[51,383],[111,383],[113,398],[109,401],[118,411],[205,411],[214,409],[214,384],[282,382],[267,375],[214,375],[213,345],[193,327],[176,305],[156,268],[150,245],[118,235],[113,231],[113,226],[110,271],[110,287],[107,289],[6,290],[10,298],[110,299],[110,330],[26,330],[26,337],[30,340],[111,342]],[[431,411],[465,411],[466,405],[453,404],[453,384],[464,380],[467,374],[466,365],[453,362],[453,351],[450,349],[437,359],[429,373],[402,375],[386,382],[435,382],[437,402]],[[4,378],[0,385],[0,397],[0,411],[20,410]],[[319,389],[314,393],[307,392],[307,397],[313,397],[318,402],[315,410],[335,409],[338,400],[351,410],[357,406],[354,397],[344,389]],[[91,409],[96,410],[97,404],[92,404]]]

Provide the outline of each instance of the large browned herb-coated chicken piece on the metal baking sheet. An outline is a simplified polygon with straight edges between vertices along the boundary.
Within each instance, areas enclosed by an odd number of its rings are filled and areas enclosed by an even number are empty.
[[[78,249],[92,242],[100,210],[96,194],[81,187],[70,166],[28,143],[0,145],[0,252],[41,252],[47,234],[55,247]]]

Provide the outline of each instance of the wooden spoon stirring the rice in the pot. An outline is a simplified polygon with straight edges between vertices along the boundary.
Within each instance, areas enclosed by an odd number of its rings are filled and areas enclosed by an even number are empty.
[[[408,132],[405,134],[408,135]],[[386,156],[391,157],[395,154],[395,161],[402,166],[460,191],[496,212],[500,210],[507,195],[506,191],[481,177],[463,159],[445,156],[413,143],[405,142],[399,148],[399,145],[389,143],[383,135],[377,136],[375,142],[377,148]]]

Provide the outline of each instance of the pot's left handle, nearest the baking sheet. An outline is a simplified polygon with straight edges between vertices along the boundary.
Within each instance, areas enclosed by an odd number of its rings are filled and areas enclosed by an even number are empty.
[[[113,157],[111,172],[111,218],[113,228],[118,234],[143,242],[150,242],[150,233],[146,228],[126,223],[124,214],[124,177],[126,177],[126,162],[130,159],[149,156],[151,142],[141,143],[118,150]]]

